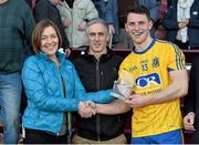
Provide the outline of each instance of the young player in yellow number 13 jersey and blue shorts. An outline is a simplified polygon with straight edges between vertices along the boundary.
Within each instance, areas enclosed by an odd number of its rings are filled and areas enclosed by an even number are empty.
[[[136,79],[134,93],[125,100],[133,107],[133,144],[181,144],[180,97],[187,94],[185,55],[170,42],[150,37],[153,22],[145,7],[127,14],[126,31],[135,44],[121,64]]]

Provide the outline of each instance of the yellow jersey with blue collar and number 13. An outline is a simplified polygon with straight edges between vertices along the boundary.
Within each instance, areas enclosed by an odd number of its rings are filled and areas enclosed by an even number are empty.
[[[121,64],[136,80],[134,92],[149,96],[165,90],[170,83],[170,71],[185,70],[185,55],[169,42],[154,39],[144,52],[132,52]],[[132,135],[142,137],[182,127],[180,100],[133,110]]]

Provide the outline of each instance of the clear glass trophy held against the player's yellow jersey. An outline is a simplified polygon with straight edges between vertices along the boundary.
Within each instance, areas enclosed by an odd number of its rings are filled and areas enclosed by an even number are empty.
[[[132,94],[134,85],[135,79],[132,73],[122,70],[118,80],[114,82],[112,95],[124,101],[126,96]]]

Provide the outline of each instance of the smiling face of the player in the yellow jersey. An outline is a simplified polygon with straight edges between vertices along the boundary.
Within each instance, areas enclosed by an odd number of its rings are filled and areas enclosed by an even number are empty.
[[[146,14],[129,13],[127,23],[125,24],[126,31],[132,37],[135,44],[143,44],[149,35],[149,30],[153,22],[147,19]]]

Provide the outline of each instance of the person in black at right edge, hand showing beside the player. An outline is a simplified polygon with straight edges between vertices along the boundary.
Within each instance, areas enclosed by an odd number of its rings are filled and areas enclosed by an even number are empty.
[[[199,58],[195,58],[190,70],[188,95],[184,100],[185,130],[193,132],[191,144],[199,144]]]

